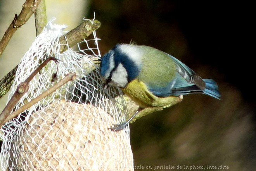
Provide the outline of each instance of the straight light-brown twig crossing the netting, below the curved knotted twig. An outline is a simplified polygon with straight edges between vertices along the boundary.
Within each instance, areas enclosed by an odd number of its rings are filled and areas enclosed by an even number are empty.
[[[5,119],[5,121],[3,122],[3,124],[7,123],[8,121],[13,119],[14,117],[18,116],[21,112],[24,112],[29,107],[33,106],[34,104],[36,104],[37,102],[39,102],[43,98],[47,97],[48,95],[50,95],[51,93],[56,91],[58,88],[60,88],[64,84],[66,84],[68,81],[73,81],[75,78],[76,78],[76,73],[67,74],[63,79],[61,79],[61,81],[56,83],[54,86],[50,87],[48,90],[46,90],[45,92],[40,94],[38,97],[33,98],[30,102],[21,106],[19,109],[17,109],[16,111],[14,111],[10,115],[8,115],[7,118]],[[0,128],[3,124],[0,123]]]

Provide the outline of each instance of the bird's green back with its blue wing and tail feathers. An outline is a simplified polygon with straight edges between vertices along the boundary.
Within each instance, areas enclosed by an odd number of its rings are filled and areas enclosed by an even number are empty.
[[[212,79],[202,79],[175,57],[152,47],[144,50],[142,69],[138,79],[158,97],[204,93],[220,99],[218,85]]]

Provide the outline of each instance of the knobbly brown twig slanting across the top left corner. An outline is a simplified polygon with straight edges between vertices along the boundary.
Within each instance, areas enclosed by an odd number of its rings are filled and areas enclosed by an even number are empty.
[[[19,16],[15,14],[15,17],[10,24],[9,28],[5,31],[2,40],[0,41],[0,57],[3,54],[7,44],[9,43],[12,35],[14,35],[15,31],[24,25],[32,14],[35,13],[37,6],[39,5],[41,0],[26,0],[26,2],[22,5],[22,10]]]

